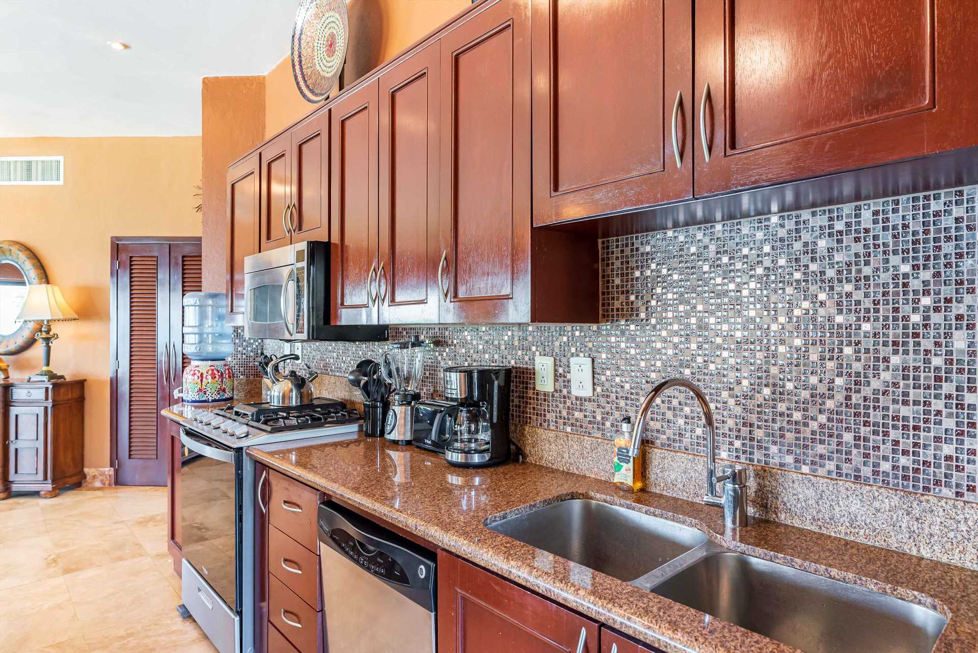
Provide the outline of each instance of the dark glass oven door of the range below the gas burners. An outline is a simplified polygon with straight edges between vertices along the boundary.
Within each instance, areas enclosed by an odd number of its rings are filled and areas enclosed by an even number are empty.
[[[184,560],[238,612],[241,493],[236,452],[187,429],[181,429],[180,442],[189,450],[180,467]]]

